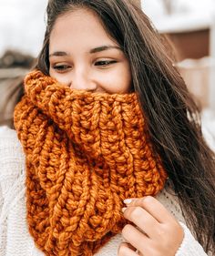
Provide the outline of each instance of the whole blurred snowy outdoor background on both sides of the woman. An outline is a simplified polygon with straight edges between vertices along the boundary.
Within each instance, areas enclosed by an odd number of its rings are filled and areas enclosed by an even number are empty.
[[[0,125],[7,125],[13,113],[5,99],[13,95],[17,78],[32,67],[42,46],[46,4],[47,0],[0,0]],[[159,33],[169,38],[175,65],[201,108],[203,132],[215,149],[215,0],[140,4]]]

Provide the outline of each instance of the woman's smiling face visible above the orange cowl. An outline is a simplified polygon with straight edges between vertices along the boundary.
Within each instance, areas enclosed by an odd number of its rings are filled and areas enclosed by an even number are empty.
[[[49,54],[50,76],[72,89],[113,94],[131,87],[127,57],[89,10],[56,19]]]

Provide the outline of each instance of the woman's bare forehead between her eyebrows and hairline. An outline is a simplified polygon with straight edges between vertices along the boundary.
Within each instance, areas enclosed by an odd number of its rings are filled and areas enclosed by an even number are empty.
[[[50,35],[50,50],[53,47],[76,46],[91,48],[97,45],[117,45],[107,34],[100,18],[91,10],[77,9],[56,19]]]

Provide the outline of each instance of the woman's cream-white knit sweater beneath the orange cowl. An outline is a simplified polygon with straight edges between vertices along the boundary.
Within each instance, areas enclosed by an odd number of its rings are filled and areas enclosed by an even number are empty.
[[[157,197],[180,221],[184,240],[175,256],[207,255],[186,227],[177,198],[167,189]],[[97,256],[118,255],[121,235],[111,239]],[[0,127],[0,256],[41,256],[26,224],[25,156],[15,130]],[[165,255],[164,255],[165,256]]]

